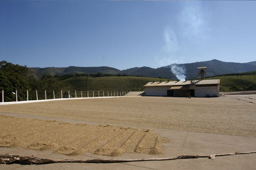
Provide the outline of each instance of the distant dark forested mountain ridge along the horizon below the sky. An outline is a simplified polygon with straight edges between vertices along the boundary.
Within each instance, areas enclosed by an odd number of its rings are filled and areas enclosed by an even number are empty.
[[[29,68],[30,74],[34,76],[42,76],[44,74],[54,75],[65,75],[65,74],[76,74],[76,73],[97,73],[102,72],[103,74],[127,74],[134,76],[147,76],[147,77],[162,77],[167,79],[175,80],[176,76],[172,73],[171,67],[174,64],[167,65],[159,68],[150,67],[134,67],[126,70],[118,70],[113,67],[101,66],[101,67],[47,67],[47,68]],[[214,76],[228,73],[239,73],[256,70],[256,61],[249,63],[232,63],[222,62],[220,60],[210,60],[195,63],[176,64],[179,67],[186,69],[185,76],[187,79],[193,79],[198,74],[197,67],[207,67],[205,76]]]

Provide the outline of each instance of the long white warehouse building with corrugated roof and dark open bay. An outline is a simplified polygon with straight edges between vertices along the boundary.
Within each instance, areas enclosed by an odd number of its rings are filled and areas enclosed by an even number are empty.
[[[220,79],[148,82],[146,96],[186,97],[190,92],[194,97],[220,97]]]

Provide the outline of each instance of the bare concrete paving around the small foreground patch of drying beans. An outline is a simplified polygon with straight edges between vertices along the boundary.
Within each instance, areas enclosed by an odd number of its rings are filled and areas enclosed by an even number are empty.
[[[16,117],[54,119],[72,123],[100,124],[97,122],[76,121],[70,119],[49,118],[42,116],[31,116],[22,114],[1,114]],[[138,127],[143,129],[153,129]],[[196,133],[169,129],[153,129],[156,133],[171,140],[171,143],[164,144],[163,155],[131,154],[126,153],[118,157],[107,157],[93,154],[79,156],[66,156],[55,154],[52,151],[37,152],[23,148],[0,148],[0,154],[12,153],[21,156],[31,156],[35,154],[39,158],[47,159],[141,159],[141,158],[167,158],[178,155],[210,155],[232,152],[256,151],[255,137],[239,137],[228,135],[217,135],[207,133]],[[230,155],[215,157],[214,160],[208,158],[198,159],[178,159],[165,161],[142,161],[126,163],[54,163],[43,165],[23,165],[23,164],[0,164],[0,169],[255,169],[256,153]]]

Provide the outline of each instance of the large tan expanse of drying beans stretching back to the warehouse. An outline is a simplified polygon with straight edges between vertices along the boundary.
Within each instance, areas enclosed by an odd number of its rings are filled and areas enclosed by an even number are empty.
[[[256,137],[255,100],[240,98],[243,100],[228,96],[192,99],[124,97],[63,100],[2,105],[0,112]]]

